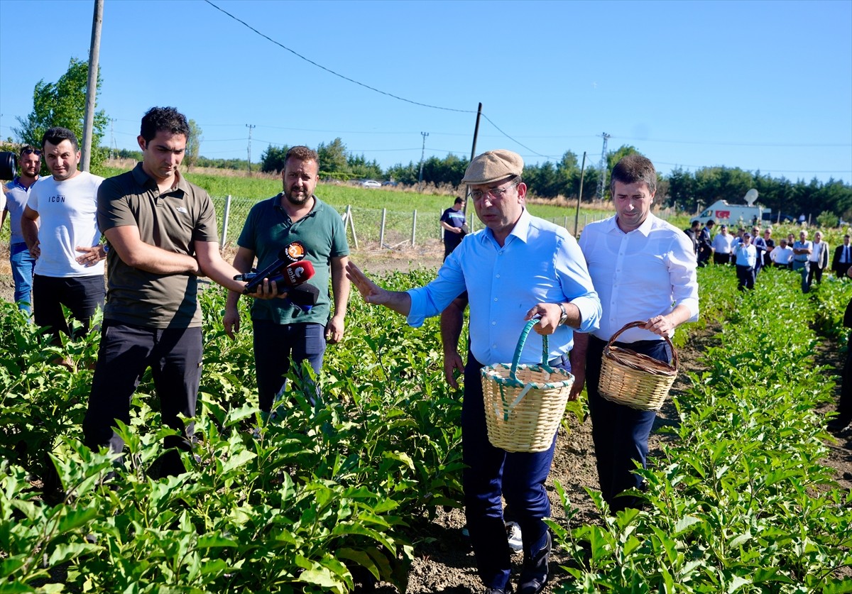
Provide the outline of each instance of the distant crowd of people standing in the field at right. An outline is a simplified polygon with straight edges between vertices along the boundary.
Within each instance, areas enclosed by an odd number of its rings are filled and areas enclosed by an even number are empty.
[[[814,283],[822,282],[822,273],[829,264],[838,278],[845,278],[852,266],[849,233],[843,236],[843,244],[834,248],[832,254],[822,231],[815,231],[813,241],[808,238],[808,230],[802,229],[798,239],[790,233],[775,243],[772,227],[761,230],[759,226],[752,226],[749,231],[740,226],[734,234],[727,225],[720,225],[714,234],[714,226],[714,220],[708,220],[705,226],[694,220],[683,232],[693,243],[698,266],[707,266],[711,261],[716,265],[735,266],[740,290],[754,288],[760,271],[775,267],[797,271],[801,275],[803,293],[809,293]]]

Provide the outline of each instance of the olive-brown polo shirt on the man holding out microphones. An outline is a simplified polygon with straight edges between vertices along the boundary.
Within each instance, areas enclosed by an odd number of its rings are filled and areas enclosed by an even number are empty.
[[[145,243],[194,256],[193,242],[218,242],[210,196],[178,176],[174,190],[160,193],[138,163],[132,171],[104,180],[98,190],[101,231],[132,225]],[[146,328],[201,325],[198,277],[188,272],[157,274],[127,266],[114,249],[107,254],[104,319]]]

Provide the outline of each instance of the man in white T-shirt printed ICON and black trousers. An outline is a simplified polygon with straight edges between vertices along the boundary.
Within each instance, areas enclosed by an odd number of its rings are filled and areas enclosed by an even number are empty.
[[[102,177],[79,171],[77,136],[66,128],[44,133],[42,154],[50,177],[38,180],[20,220],[30,254],[36,259],[32,278],[33,310],[39,326],[49,326],[58,342],[70,334],[62,306],[88,332],[91,317],[103,307],[101,230],[95,217]]]

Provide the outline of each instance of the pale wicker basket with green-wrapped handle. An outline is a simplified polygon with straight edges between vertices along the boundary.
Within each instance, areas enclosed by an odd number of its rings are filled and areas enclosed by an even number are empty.
[[[507,452],[544,452],[565,414],[574,376],[548,365],[547,336],[540,365],[518,364],[530,328],[521,332],[511,366],[503,363],[481,369],[482,396],[488,441]]]

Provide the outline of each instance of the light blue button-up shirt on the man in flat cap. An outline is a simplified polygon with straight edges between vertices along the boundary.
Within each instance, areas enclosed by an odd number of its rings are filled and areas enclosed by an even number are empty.
[[[483,365],[511,363],[527,311],[537,303],[570,301],[582,317],[580,332],[597,328],[601,301],[592,286],[583,254],[565,229],[531,216],[526,209],[501,247],[490,229],[464,237],[438,277],[408,291],[407,322],[418,327],[468,292],[470,350]],[[550,334],[548,360],[573,346],[567,326]],[[520,363],[542,363],[542,338],[531,332]]]

